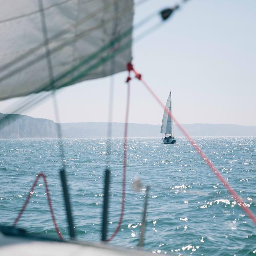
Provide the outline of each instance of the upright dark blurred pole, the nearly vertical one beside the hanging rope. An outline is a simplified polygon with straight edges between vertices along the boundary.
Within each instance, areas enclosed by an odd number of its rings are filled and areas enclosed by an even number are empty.
[[[102,215],[102,241],[106,241],[108,232],[108,192],[109,192],[109,178],[110,170],[105,171],[105,184],[104,184],[104,202],[103,202],[103,215]]]

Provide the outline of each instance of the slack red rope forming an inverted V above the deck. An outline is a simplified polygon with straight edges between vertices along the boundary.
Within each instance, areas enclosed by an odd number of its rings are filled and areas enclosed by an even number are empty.
[[[28,205],[28,202],[32,196],[32,194],[34,193],[34,189],[36,187],[36,184],[39,180],[40,177],[43,177],[44,179],[44,185],[45,185],[45,190],[46,190],[46,195],[47,195],[47,200],[48,200],[48,205],[49,205],[49,208],[50,208],[50,212],[51,212],[51,215],[52,215],[52,221],[54,223],[54,227],[55,227],[55,230],[58,234],[58,236],[60,237],[61,240],[63,240],[63,237],[62,237],[62,234],[60,232],[60,230],[58,229],[58,226],[57,226],[57,223],[56,223],[56,220],[55,220],[55,217],[54,217],[54,213],[53,213],[53,210],[52,210],[52,203],[51,203],[51,199],[50,199],[50,192],[49,192],[49,189],[48,189],[48,185],[47,185],[47,180],[46,180],[46,176],[44,175],[44,173],[39,173],[36,177],[36,180],[34,181],[34,184],[32,186],[32,188],[30,189],[30,192],[28,194],[28,197],[25,201],[25,203],[23,204],[22,206],[22,209],[20,210],[17,218],[14,220],[14,223],[13,223],[13,226],[16,226],[16,224],[18,223],[18,221],[20,220],[20,217],[22,216],[24,210],[26,209],[27,205]]]

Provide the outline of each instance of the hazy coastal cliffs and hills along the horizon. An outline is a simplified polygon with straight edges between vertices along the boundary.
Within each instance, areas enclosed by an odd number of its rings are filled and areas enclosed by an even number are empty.
[[[0,113],[0,119],[6,114]],[[107,135],[108,123],[83,122],[63,123],[64,138],[102,138]],[[256,136],[256,126],[236,124],[182,124],[191,136]],[[129,137],[160,137],[160,125],[134,124],[128,127]],[[124,123],[112,123],[112,136],[122,137]],[[183,136],[174,125],[175,136]],[[56,138],[56,123],[43,118],[11,114],[7,125],[0,122],[0,138]]]

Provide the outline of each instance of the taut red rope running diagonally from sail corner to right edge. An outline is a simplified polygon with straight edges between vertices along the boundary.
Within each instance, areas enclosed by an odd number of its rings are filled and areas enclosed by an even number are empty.
[[[139,80],[141,80],[141,82],[144,84],[144,86],[146,86],[146,88],[149,90],[149,92],[152,94],[152,96],[156,99],[156,101],[162,106],[162,108],[164,108],[164,111],[168,114],[168,116],[170,116],[170,118],[176,122],[178,128],[182,131],[182,133],[186,136],[186,138],[188,139],[188,141],[192,144],[192,146],[196,149],[196,151],[198,152],[198,154],[202,157],[202,159],[204,160],[204,162],[206,162],[206,164],[210,167],[210,169],[214,172],[214,174],[218,177],[218,179],[220,180],[220,182],[222,182],[222,184],[225,186],[225,188],[228,190],[228,192],[230,192],[230,194],[233,196],[233,198],[236,200],[236,202],[238,203],[238,205],[242,208],[242,210],[244,210],[244,212],[248,215],[248,217],[254,222],[254,224],[256,224],[256,217],[254,216],[254,214],[252,213],[252,211],[246,207],[246,204],[243,202],[242,198],[240,198],[240,196],[238,196],[238,194],[236,194],[235,190],[230,186],[230,184],[228,184],[227,180],[220,174],[220,172],[218,171],[218,169],[212,164],[212,162],[210,161],[210,159],[204,154],[204,152],[202,151],[202,149],[196,144],[196,142],[188,135],[188,133],[184,130],[184,128],[180,125],[180,123],[176,120],[176,118],[174,118],[174,116],[172,115],[171,111],[168,110],[166,108],[166,106],[161,102],[161,100],[158,98],[158,96],[156,96],[156,94],[154,93],[154,91],[150,88],[150,86],[142,79],[140,73],[138,73],[136,70],[134,70],[134,68],[132,67],[132,71],[134,72],[136,78],[138,78]]]

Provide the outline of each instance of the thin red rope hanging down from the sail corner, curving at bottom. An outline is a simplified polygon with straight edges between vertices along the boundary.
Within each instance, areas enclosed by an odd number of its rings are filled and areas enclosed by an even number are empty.
[[[128,68],[127,68],[128,69]],[[113,234],[110,236],[110,238],[107,239],[107,242],[111,241],[112,238],[116,235],[118,230],[120,229],[120,226],[122,224],[122,220],[124,217],[124,205],[125,205],[125,185],[126,185],[126,165],[127,165],[127,131],[128,131],[128,115],[129,115],[129,108],[130,108],[130,70],[129,71],[129,76],[126,80],[127,82],[127,103],[126,103],[126,114],[125,114],[125,125],[124,125],[124,148],[123,148],[123,184],[122,184],[122,206],[121,206],[121,213],[120,213],[120,218],[119,222],[117,224],[117,227]]]

